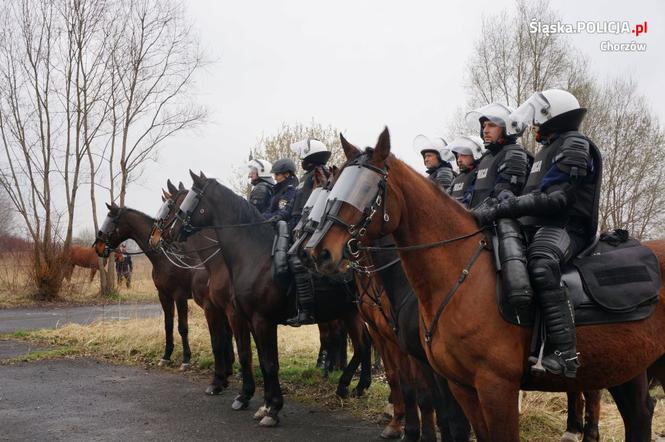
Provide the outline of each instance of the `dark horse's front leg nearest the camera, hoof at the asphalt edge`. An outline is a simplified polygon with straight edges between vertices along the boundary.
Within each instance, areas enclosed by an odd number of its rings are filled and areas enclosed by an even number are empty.
[[[260,425],[274,427],[279,423],[279,412],[284,406],[284,397],[279,385],[279,359],[277,351],[277,325],[268,319],[254,315],[252,318],[254,342],[263,373],[263,397],[265,409],[257,411]]]

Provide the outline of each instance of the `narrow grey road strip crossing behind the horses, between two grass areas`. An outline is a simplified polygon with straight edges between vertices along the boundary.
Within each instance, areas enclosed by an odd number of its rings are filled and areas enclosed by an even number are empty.
[[[0,334],[19,330],[89,324],[99,320],[149,318],[162,314],[159,304],[109,304],[83,307],[21,308],[0,310]]]

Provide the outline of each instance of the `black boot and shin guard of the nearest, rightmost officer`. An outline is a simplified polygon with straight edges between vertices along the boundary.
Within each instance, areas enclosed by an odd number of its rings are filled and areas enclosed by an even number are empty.
[[[543,319],[547,329],[547,344],[552,353],[543,357],[543,367],[553,374],[567,378],[577,375],[575,319],[568,295],[563,288],[544,291],[540,296]]]

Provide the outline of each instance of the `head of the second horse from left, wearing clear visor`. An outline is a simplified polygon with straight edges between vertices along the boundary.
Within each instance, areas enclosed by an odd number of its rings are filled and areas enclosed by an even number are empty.
[[[164,204],[157,214],[155,225],[150,234],[150,245],[155,247],[160,241],[185,241],[199,228],[212,224],[210,203],[206,196],[209,185],[215,182],[189,171],[192,188],[187,190],[181,184],[178,189],[169,184],[169,193],[165,194]]]

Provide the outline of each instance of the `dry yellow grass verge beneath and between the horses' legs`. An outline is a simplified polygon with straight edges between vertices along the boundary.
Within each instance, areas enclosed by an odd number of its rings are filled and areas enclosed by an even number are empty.
[[[89,326],[68,325],[57,330],[23,333],[20,337],[61,348],[60,352],[46,353],[45,357],[77,354],[141,366],[154,366],[163,349],[161,319],[101,322]],[[192,362],[195,364],[196,370],[205,375],[211,375],[212,355],[208,332],[202,311],[196,306],[192,306],[190,339],[193,352]],[[363,419],[376,420],[387,401],[386,383],[375,378],[365,397],[344,401],[338,399],[334,395],[334,391],[339,374],[325,380],[314,366],[318,345],[316,327],[279,328],[280,377],[285,394],[291,398],[328,408],[345,408]],[[180,357],[181,348],[176,345],[174,361],[179,360]],[[256,356],[254,360],[257,361]],[[255,366],[257,365],[255,363]],[[258,370],[256,370],[256,376],[260,379]],[[661,399],[663,397],[660,387],[652,391],[652,394],[657,394]],[[261,388],[257,390],[257,398],[260,395]],[[289,400],[288,397],[287,400]],[[522,440],[558,440],[565,429],[565,421],[565,395],[529,392],[523,403],[521,416]],[[654,417],[654,435],[664,432],[665,405],[660,400]],[[607,394],[603,398],[601,434],[604,441],[623,440],[621,418]]]

